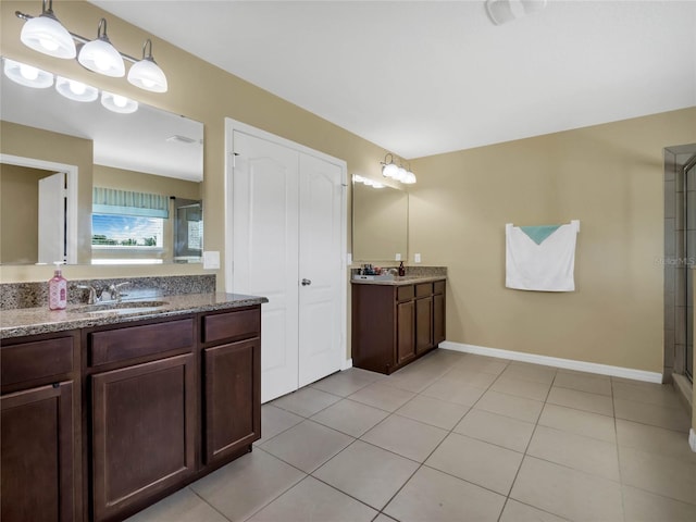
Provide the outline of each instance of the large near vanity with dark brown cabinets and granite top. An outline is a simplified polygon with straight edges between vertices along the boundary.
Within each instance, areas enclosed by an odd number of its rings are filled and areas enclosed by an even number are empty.
[[[115,521],[261,436],[261,303],[2,311],[3,521]]]

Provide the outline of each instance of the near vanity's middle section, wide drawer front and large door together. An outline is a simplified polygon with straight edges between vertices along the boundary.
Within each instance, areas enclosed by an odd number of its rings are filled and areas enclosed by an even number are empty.
[[[87,334],[94,520],[196,473],[194,318]]]

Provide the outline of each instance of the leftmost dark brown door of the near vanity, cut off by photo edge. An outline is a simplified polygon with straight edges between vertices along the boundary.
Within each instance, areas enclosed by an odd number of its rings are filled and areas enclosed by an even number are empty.
[[[2,522],[74,520],[73,384],[0,398]]]

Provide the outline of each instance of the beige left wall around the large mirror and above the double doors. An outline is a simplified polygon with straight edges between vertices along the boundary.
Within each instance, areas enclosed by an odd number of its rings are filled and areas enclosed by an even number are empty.
[[[204,244],[207,250],[217,250],[224,266],[224,119],[232,117],[262,128],[307,147],[346,160],[349,174],[380,175],[380,161],[385,151],[300,108],[152,37],[117,17],[107,14],[109,36],[122,52],[141,54],[142,41],[151,38],[153,54],[166,72],[170,90],[152,94],[138,89],[124,78],[108,78],[80,67],[72,60],[58,60],[37,53],[20,42],[22,21],[14,11],[38,14],[40,2],[0,2],[0,48],[8,58],[25,61],[54,73],[92,84],[95,87],[130,96],[160,109],[184,114],[204,124]],[[92,35],[103,11],[84,1],[58,2],[54,11],[73,33]],[[244,49],[231,50],[244,52]],[[347,247],[348,248],[348,247]],[[347,250],[349,251],[349,249]],[[2,266],[1,282],[44,281],[46,274],[33,266]],[[69,266],[67,277],[111,276],[113,268]],[[137,274],[201,273],[200,265],[165,265],[158,268],[126,268],[129,276]],[[119,275],[121,272],[115,272]],[[215,271],[217,286],[224,289],[224,270]]]

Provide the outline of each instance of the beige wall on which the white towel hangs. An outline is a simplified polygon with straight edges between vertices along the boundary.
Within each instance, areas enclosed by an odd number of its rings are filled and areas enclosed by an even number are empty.
[[[409,250],[448,266],[447,339],[662,370],[662,149],[696,108],[412,162]],[[575,293],[505,288],[505,224],[581,221]]]

